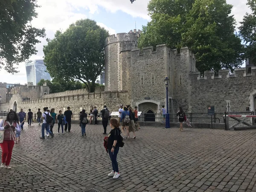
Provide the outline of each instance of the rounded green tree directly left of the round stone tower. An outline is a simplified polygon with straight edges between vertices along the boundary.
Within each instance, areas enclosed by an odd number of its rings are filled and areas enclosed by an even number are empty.
[[[57,31],[44,46],[47,71],[57,81],[82,81],[88,92],[93,92],[104,70],[107,37],[108,31],[89,19],[76,21],[65,32]]]

